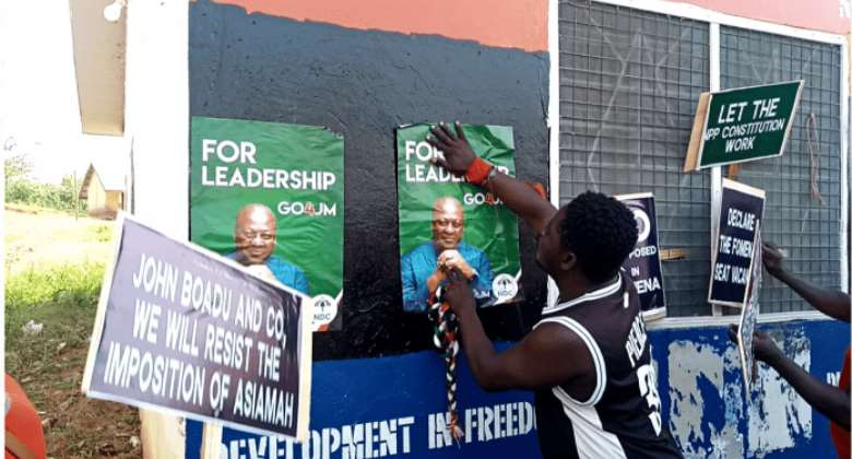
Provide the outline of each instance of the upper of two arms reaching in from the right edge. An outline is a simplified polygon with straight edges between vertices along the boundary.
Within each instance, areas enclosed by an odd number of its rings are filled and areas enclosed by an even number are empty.
[[[783,266],[784,256],[778,247],[764,244],[764,266],[773,278],[788,284],[810,306],[826,316],[844,322],[849,322],[850,303],[849,295],[839,290],[823,289],[804,279],[796,278],[786,271]]]

